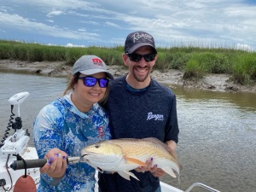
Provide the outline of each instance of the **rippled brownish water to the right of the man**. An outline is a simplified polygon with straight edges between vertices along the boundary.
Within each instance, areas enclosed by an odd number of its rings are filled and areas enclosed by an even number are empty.
[[[201,182],[220,191],[256,191],[256,95],[182,88],[174,91],[182,189]],[[179,186],[172,177],[162,180]]]

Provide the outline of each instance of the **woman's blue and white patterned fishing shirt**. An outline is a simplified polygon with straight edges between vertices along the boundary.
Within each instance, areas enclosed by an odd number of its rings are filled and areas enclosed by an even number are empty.
[[[87,113],[73,105],[71,94],[63,96],[42,108],[33,128],[34,144],[38,158],[51,148],[60,148],[68,156],[80,156],[81,149],[91,143],[110,139],[108,114],[97,103]],[[61,182],[53,186],[54,179],[41,174],[39,192],[86,191],[95,188],[95,169],[84,162],[69,164]]]

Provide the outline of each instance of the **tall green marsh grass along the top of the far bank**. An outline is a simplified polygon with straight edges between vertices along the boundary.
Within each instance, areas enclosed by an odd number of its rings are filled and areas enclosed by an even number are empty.
[[[157,49],[158,60],[154,69],[161,72],[182,70],[184,79],[201,79],[207,73],[228,73],[237,83],[256,83],[256,52],[192,46]],[[123,67],[123,51],[122,46],[63,47],[0,40],[1,60],[66,61],[67,65],[73,65],[82,55],[97,55],[109,66]]]

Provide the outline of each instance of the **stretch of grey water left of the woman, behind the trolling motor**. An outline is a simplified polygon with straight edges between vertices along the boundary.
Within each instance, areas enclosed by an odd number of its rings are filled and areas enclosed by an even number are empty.
[[[30,95],[25,102],[20,104],[20,117],[23,129],[32,134],[32,123],[41,108],[57,97],[62,96],[66,89],[68,79],[52,78],[39,75],[1,73],[0,72],[0,138],[3,139],[4,131],[9,123],[11,107],[8,102],[10,96],[28,91]],[[13,112],[17,115],[17,106]],[[9,132],[12,132],[9,131]],[[29,144],[33,146],[32,139]]]

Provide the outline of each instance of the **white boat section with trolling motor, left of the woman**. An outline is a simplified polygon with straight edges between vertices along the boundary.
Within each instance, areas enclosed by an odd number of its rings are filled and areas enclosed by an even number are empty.
[[[13,191],[16,181],[24,176],[32,177],[35,184],[39,183],[40,172],[38,167],[16,171],[10,167],[15,160],[38,159],[36,148],[28,147],[27,143],[30,140],[30,133],[27,129],[24,130],[22,128],[22,120],[20,118],[20,104],[26,100],[27,96],[29,96],[28,92],[20,92],[9,98],[11,115],[3,140],[1,141],[0,149],[1,192]],[[14,108],[17,108],[17,115],[13,112]],[[15,121],[13,121],[14,119]],[[11,128],[14,129],[14,133],[9,136]]]

